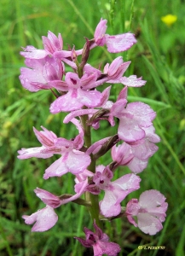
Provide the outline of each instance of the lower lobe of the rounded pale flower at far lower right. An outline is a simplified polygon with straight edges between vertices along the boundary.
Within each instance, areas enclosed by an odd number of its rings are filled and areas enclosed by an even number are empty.
[[[138,213],[137,225],[142,232],[150,236],[155,235],[163,229],[163,225],[159,219],[151,216],[149,213]]]

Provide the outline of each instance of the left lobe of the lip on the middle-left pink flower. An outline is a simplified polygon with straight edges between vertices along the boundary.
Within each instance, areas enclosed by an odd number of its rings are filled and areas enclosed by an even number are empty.
[[[62,162],[62,157],[58,160],[55,160],[55,162],[49,166],[45,173],[43,174],[43,178],[47,179],[49,177],[61,177],[62,175],[66,174],[68,172],[68,168],[64,162]]]

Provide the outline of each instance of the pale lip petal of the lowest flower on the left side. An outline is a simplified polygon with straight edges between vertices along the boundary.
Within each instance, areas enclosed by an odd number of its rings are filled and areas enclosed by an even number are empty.
[[[38,210],[38,212],[32,213],[31,216],[23,215],[26,224],[33,224],[33,232],[43,232],[51,229],[57,222],[58,216],[56,215],[52,207],[46,206],[45,208]]]

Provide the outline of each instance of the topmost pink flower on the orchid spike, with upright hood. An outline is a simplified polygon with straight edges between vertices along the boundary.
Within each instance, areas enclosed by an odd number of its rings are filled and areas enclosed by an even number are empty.
[[[105,34],[107,30],[107,20],[102,20],[98,23],[95,28],[95,44],[99,46],[107,45],[107,50],[111,53],[122,52],[130,49],[133,44],[136,44],[136,38],[130,32],[110,36]]]

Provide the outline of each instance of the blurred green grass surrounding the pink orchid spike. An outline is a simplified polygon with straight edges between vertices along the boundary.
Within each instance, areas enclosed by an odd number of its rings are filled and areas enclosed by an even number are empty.
[[[166,26],[160,19],[176,15],[176,23]],[[84,225],[90,228],[84,207],[68,204],[56,209],[59,221],[47,232],[31,233],[21,215],[43,207],[34,195],[37,186],[55,195],[73,193],[72,175],[43,181],[44,170],[54,161],[18,160],[17,150],[39,145],[32,126],[40,125],[60,137],[74,137],[71,125],[63,125],[64,113],[51,115],[49,104],[54,101],[48,91],[31,93],[18,79],[24,65],[20,47],[42,48],[41,37],[50,30],[61,32],[64,48],[84,45],[84,37],[92,38],[95,26],[103,17],[108,20],[107,33],[135,32],[138,43],[124,53],[132,61],[126,75],[136,74],[147,80],[142,88],[129,89],[129,101],[142,101],[156,112],[156,132],[161,137],[159,151],[153,155],[147,169],[141,173],[141,189],[128,196],[123,206],[143,190],[159,189],[169,203],[164,230],[156,236],[146,236],[117,219],[105,229],[113,241],[122,247],[120,255],[184,255],[184,188],[185,188],[185,5],[183,1],[1,1],[0,16],[0,255],[90,255],[84,253],[73,236],[84,236]],[[118,55],[107,55],[103,49],[93,49],[92,65],[98,67]],[[115,85],[112,93],[122,88]],[[102,124],[103,132],[107,124]],[[104,137],[94,132],[95,139]],[[109,163],[108,154],[101,163]],[[105,231],[106,231],[105,230]],[[165,246],[165,250],[139,251],[138,245]]]

